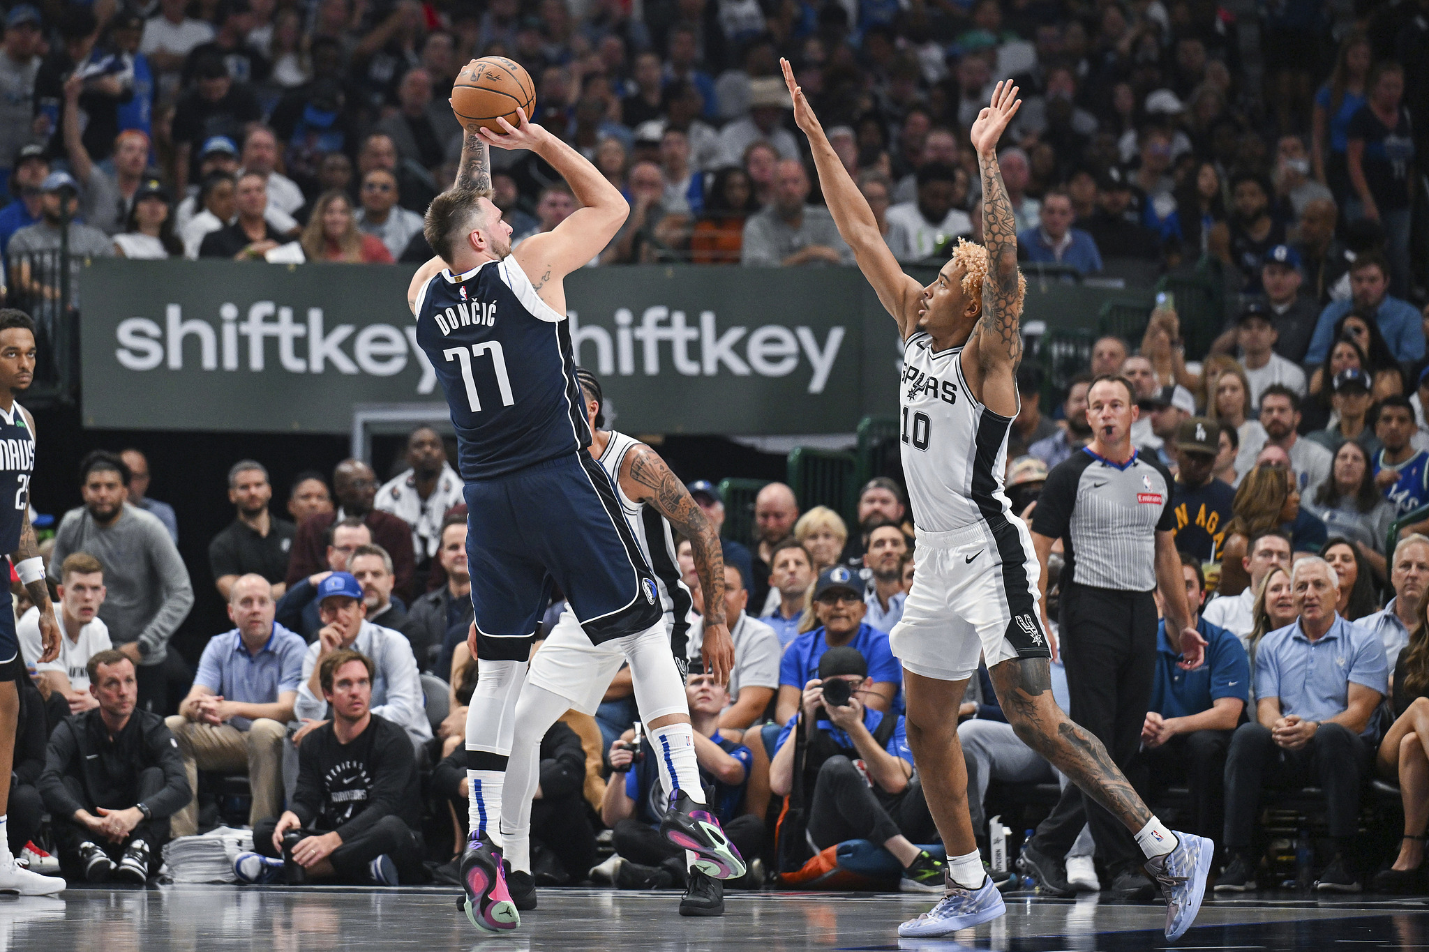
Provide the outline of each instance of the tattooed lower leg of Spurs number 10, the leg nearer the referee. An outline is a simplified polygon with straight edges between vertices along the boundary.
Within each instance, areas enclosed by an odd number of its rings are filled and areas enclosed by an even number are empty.
[[[989,674],[1002,711],[1023,744],[1127,826],[1140,829],[1150,821],[1152,812],[1106,746],[1056,707],[1050,661],[1013,658],[993,665]]]

